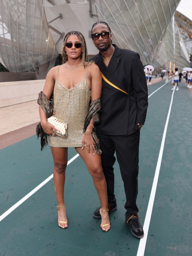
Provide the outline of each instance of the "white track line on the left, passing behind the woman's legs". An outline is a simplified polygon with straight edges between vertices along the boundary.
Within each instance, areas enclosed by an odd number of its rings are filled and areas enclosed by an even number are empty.
[[[79,154],[76,154],[75,156],[73,156],[73,158],[71,158],[68,162],[67,165],[69,165],[71,162],[73,162],[77,157],[79,156]],[[0,216],[0,222],[7,217],[7,215],[9,215],[11,212],[13,212],[18,206],[20,206],[23,202],[26,201],[26,199],[30,198],[31,195],[33,195],[35,192],[37,192],[37,190],[39,190],[41,187],[43,187],[47,182],[49,182],[51,179],[53,178],[53,174],[50,175],[47,179],[45,179],[43,182],[40,183],[40,185],[38,185],[35,189],[33,189],[31,192],[29,192],[27,195],[25,195],[22,199],[20,199],[20,201],[18,201],[16,204],[14,204],[10,209],[8,209],[6,212],[4,212],[1,216]]]

